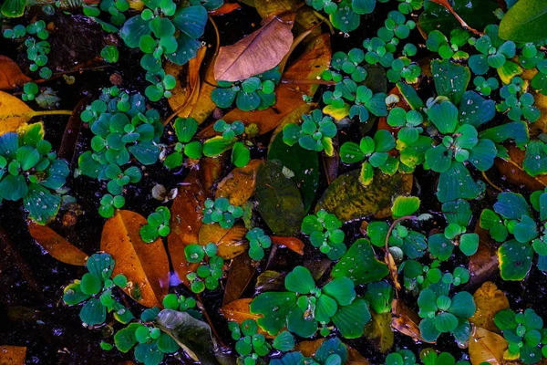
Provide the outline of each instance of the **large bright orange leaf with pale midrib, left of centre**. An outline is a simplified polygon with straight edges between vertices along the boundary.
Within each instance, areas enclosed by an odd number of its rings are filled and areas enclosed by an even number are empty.
[[[146,218],[131,211],[118,211],[103,228],[100,249],[116,260],[112,276],[123,274],[132,286],[124,291],[135,300],[139,286],[139,304],[145,307],[161,306],[169,292],[169,258],[160,238],[145,244],[139,230],[147,224]]]

